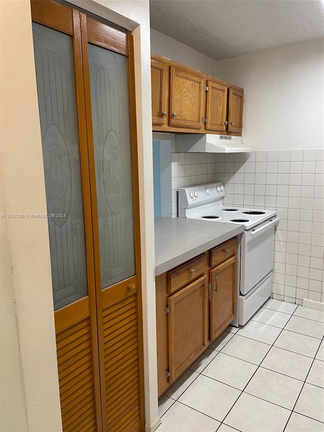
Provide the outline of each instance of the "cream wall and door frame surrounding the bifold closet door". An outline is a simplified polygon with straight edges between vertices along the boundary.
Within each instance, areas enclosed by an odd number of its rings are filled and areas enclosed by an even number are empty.
[[[80,6],[79,1],[75,0],[75,3]],[[17,0],[0,4],[3,83],[0,98],[0,162],[4,174],[6,211],[26,213],[28,209],[28,213],[47,213],[30,2]],[[82,7],[130,29],[134,35],[140,171],[145,415],[146,430],[154,430],[159,424],[159,417],[154,307],[152,131],[150,122],[147,122],[147,119],[151,118],[151,89],[147,85],[150,82],[149,3],[148,0],[86,0],[82,2]],[[19,62],[15,54],[19,54]],[[8,237],[4,261],[7,276],[12,271],[13,282],[12,286],[9,282],[6,283],[5,289],[11,290],[8,294],[11,302],[13,290],[15,292],[16,317],[13,316],[14,309],[11,305],[10,313],[4,316],[5,322],[2,322],[2,325],[11,326],[16,340],[19,335],[20,359],[17,358],[17,348],[6,346],[4,355],[9,356],[13,352],[16,362],[11,368],[7,368],[8,376],[5,382],[17,384],[12,389],[15,390],[15,395],[11,398],[12,410],[16,412],[17,418],[11,416],[2,430],[25,430],[25,410],[22,404],[24,394],[29,430],[59,432],[62,425],[47,220],[10,219]],[[13,270],[11,266],[8,268],[9,256]],[[17,329],[12,326],[16,319]],[[14,338],[12,343],[15,343]],[[22,370],[22,389],[17,377],[18,360]],[[18,422],[20,426],[17,427]]]

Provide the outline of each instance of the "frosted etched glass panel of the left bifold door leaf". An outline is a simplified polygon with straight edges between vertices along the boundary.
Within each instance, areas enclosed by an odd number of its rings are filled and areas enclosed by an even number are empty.
[[[72,38],[32,23],[54,309],[88,295]]]

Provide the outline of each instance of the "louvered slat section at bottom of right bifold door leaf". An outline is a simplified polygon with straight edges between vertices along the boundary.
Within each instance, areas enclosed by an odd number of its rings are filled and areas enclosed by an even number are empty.
[[[105,308],[103,323],[108,430],[126,432],[140,420],[137,295]]]

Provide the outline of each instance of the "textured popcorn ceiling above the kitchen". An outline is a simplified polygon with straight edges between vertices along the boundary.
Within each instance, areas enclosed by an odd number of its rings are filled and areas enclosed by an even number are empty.
[[[324,36],[324,0],[150,0],[151,27],[215,60]]]

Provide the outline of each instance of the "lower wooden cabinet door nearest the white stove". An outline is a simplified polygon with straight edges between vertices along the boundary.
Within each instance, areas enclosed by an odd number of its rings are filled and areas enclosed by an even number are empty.
[[[236,256],[211,271],[211,341],[230,324],[236,313]]]

